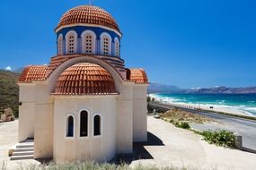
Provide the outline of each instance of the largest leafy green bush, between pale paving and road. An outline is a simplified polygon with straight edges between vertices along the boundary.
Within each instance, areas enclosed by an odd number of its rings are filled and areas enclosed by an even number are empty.
[[[216,144],[216,146],[235,149],[235,135],[234,132],[228,132],[225,130],[216,131],[204,131],[202,132],[204,140],[210,144]]]

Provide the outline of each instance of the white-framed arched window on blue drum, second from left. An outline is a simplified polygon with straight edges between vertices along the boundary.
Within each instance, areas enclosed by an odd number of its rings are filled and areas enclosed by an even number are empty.
[[[76,53],[76,38],[75,31],[69,31],[66,34],[66,54]]]

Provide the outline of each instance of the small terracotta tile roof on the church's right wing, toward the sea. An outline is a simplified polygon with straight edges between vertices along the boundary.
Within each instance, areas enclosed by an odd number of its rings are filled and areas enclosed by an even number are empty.
[[[146,72],[143,69],[128,69],[128,81],[134,81],[137,84],[148,84]]]

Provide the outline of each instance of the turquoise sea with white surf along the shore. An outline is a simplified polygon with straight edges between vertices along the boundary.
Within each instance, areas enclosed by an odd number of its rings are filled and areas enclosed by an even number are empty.
[[[229,95],[229,94],[150,94],[155,100],[169,103],[172,106],[181,106],[214,112],[224,112],[234,115],[256,117],[256,95]]]

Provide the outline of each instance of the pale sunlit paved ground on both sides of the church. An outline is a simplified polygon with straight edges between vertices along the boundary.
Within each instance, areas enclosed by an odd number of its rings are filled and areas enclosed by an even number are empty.
[[[17,142],[18,121],[0,123],[0,168],[7,170],[30,164],[35,160],[8,161],[8,149]],[[209,145],[193,132],[175,128],[171,123],[148,117],[149,141],[135,144],[140,159],[131,160],[131,166],[179,166],[188,169],[255,170],[256,154]]]

